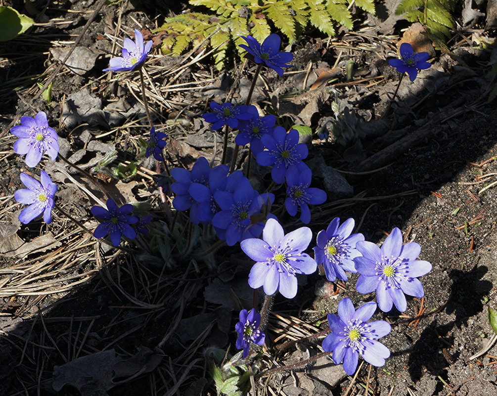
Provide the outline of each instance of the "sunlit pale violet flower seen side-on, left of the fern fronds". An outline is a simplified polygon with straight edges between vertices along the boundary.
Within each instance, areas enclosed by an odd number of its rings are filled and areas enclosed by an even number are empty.
[[[144,43],[143,34],[135,29],[135,42],[130,38],[124,39],[124,48],[122,49],[122,57],[111,58],[109,61],[110,67],[104,69],[104,72],[128,72],[139,68],[147,58],[152,49],[152,41]]]

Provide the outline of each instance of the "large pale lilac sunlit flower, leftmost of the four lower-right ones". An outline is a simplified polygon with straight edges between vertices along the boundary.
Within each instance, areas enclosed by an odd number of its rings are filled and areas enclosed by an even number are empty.
[[[277,290],[286,298],[297,294],[297,275],[312,274],[317,264],[308,254],[302,253],[312,239],[312,231],[302,227],[287,235],[277,220],[269,219],[262,231],[262,239],[250,238],[240,243],[242,250],[257,261],[248,275],[248,284],[264,293]]]

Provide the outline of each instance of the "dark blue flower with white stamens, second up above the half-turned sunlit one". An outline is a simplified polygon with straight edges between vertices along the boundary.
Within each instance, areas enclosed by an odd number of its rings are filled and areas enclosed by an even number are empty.
[[[309,151],[304,143],[299,143],[299,132],[292,129],[286,133],[285,128],[277,126],[272,134],[261,138],[267,151],[257,154],[257,163],[262,166],[271,166],[271,177],[281,184],[285,181],[290,166],[300,166],[302,159],[307,158]]]

